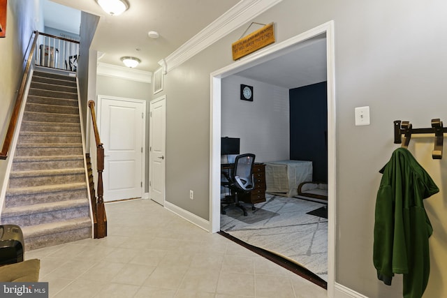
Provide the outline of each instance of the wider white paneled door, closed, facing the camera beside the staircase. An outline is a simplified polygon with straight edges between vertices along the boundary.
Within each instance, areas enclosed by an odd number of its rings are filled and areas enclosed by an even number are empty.
[[[142,197],[145,100],[98,96],[104,201]]]

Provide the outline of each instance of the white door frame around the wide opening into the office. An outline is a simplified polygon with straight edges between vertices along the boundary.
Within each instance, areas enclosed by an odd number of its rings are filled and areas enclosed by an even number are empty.
[[[336,223],[336,109],[334,21],[321,24],[297,36],[235,61],[210,75],[210,232],[220,230],[221,179],[221,79],[265,61],[279,57],[309,38],[326,35],[326,70],[328,83],[328,297],[335,293],[335,223]]]

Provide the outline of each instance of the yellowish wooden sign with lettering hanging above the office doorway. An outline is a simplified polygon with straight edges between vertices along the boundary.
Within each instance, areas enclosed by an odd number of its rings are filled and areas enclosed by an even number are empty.
[[[274,43],[274,31],[273,23],[270,23],[232,43],[233,60],[247,56],[272,43]]]

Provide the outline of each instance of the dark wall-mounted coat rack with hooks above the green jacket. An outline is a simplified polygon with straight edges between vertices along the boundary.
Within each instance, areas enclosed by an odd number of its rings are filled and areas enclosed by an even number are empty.
[[[407,148],[411,140],[411,135],[416,133],[434,133],[434,149],[432,151],[432,158],[441,159],[444,133],[447,133],[447,127],[442,126],[441,119],[432,119],[431,128],[413,128],[409,121],[394,121],[395,144],[402,144],[401,147]],[[402,135],[404,135],[403,138]]]

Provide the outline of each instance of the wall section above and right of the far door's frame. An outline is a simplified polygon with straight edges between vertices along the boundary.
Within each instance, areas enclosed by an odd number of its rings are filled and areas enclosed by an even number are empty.
[[[149,115],[149,101],[152,99],[152,84],[135,82],[118,77],[96,76],[96,94],[146,100],[146,115]],[[96,102],[96,100],[95,100]],[[145,192],[149,192],[149,117],[146,117]]]

